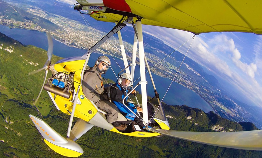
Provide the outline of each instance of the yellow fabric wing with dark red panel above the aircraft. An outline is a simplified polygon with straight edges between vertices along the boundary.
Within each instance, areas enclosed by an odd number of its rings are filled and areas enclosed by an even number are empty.
[[[91,3],[78,1],[80,5]],[[85,1],[86,2],[86,1]],[[97,4],[97,3],[96,3]],[[103,0],[107,7],[91,17],[115,22],[123,16],[142,17],[142,24],[169,27],[195,34],[250,32],[262,34],[262,1],[246,0]]]

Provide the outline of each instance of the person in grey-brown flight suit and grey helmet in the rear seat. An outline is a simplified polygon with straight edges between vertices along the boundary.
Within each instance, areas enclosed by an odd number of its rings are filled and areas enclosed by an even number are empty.
[[[106,95],[103,95],[104,85],[101,74],[104,74],[108,70],[110,64],[110,59],[107,56],[98,57],[95,66],[89,68],[84,74],[83,93],[86,98],[92,100],[99,109],[106,111],[107,121],[109,123],[112,123],[116,129],[124,131],[127,125],[117,122],[118,112],[113,108],[115,105],[106,100]]]

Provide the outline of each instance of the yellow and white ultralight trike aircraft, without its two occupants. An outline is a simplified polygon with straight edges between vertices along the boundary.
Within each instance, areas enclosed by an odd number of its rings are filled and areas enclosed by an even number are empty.
[[[168,27],[194,33],[209,32],[248,32],[262,34],[261,8],[262,1],[244,0],[76,0],[74,9],[82,15],[89,14],[95,20],[113,22],[116,26],[82,57],[64,58],[51,65],[52,38],[48,34],[48,60],[45,62],[45,80],[42,89],[45,89],[58,110],[70,116],[67,138],[62,137],[42,119],[30,115],[36,128],[42,134],[45,143],[55,152],[68,157],[77,157],[83,154],[83,149],[75,141],[89,131],[93,126],[104,128],[119,134],[135,137],[154,137],[168,135],[188,141],[209,144],[219,147],[229,147],[245,150],[262,150],[262,130],[241,132],[192,132],[173,131],[163,111],[159,95],[144,53],[142,24]],[[84,12],[88,11],[88,13]],[[132,62],[128,64],[123,47],[120,30],[132,24],[135,34],[133,43]],[[99,109],[88,100],[83,93],[83,75],[92,52],[101,44],[118,33],[123,61],[126,71],[134,77],[136,66],[137,46],[139,47],[140,81],[132,90],[141,87],[144,127],[130,122],[120,112],[118,120],[129,122],[125,131],[118,131],[106,120],[106,112]],[[131,67],[131,71],[130,68]],[[147,101],[147,68],[158,105]],[[52,76],[46,81],[48,70]],[[39,70],[40,71],[40,70]],[[46,82],[45,82],[46,81]],[[39,96],[42,92],[39,93]],[[131,91],[132,91],[131,90]],[[126,95],[129,96],[130,93]],[[38,98],[39,98],[38,96]],[[36,99],[35,103],[37,102]],[[149,115],[150,114],[150,115]],[[78,118],[73,126],[73,117]]]

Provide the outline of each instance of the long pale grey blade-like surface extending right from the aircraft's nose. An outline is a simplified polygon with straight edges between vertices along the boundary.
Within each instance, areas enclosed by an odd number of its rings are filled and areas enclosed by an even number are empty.
[[[187,141],[218,147],[228,147],[244,150],[262,150],[262,130],[240,132],[192,132],[164,129],[147,129]]]

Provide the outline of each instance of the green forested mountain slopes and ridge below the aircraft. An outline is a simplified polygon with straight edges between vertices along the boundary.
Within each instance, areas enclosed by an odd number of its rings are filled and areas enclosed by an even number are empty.
[[[33,101],[42,86],[44,71],[30,76],[28,73],[42,68],[46,59],[47,51],[25,46],[0,33],[0,157],[62,157],[45,145],[29,118],[29,114],[38,115]],[[57,60],[59,57],[53,56],[52,63]],[[36,106],[43,120],[65,137],[70,116],[58,111],[45,91]],[[252,123],[232,122],[185,105],[163,106],[171,130],[257,129]],[[76,142],[84,150],[80,157],[262,157],[260,151],[214,147],[168,136],[130,137],[97,127]]]

